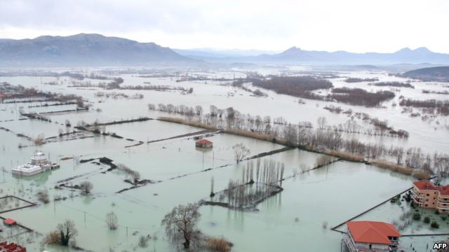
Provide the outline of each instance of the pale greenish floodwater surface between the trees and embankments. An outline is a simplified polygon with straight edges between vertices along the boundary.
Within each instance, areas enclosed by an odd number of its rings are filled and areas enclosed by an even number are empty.
[[[230,78],[233,73],[210,73],[213,76]],[[237,74],[239,74],[237,72]],[[344,77],[380,78],[386,80],[401,80],[388,76],[386,73],[348,72],[341,73],[341,78],[330,79],[335,86],[363,87],[367,90],[389,90],[389,87],[376,87],[367,83],[344,83]],[[396,146],[422,148],[425,153],[440,151],[449,153],[448,118],[438,118],[436,121],[424,122],[420,118],[410,118],[401,113],[398,96],[415,99],[446,99],[443,94],[422,94],[422,90],[444,90],[442,83],[413,82],[415,89],[398,88],[396,98],[386,102],[386,109],[364,108],[330,102],[304,99],[306,104],[298,104],[297,98],[275,94],[264,90],[269,97],[252,97],[249,92],[239,90],[219,81],[187,81],[176,83],[176,78],[139,78],[133,75],[121,76],[125,81],[122,85],[152,85],[193,87],[193,94],[181,94],[179,91],[158,92],[146,90],[115,90],[125,94],[144,94],[143,99],[106,99],[95,97],[95,92],[112,92],[98,88],[67,87],[72,80],[40,77],[2,77],[0,82],[7,81],[15,85],[36,87],[39,90],[78,94],[91,102],[90,111],[47,113],[75,109],[74,105],[39,106],[42,102],[22,104],[0,104],[0,126],[12,132],[0,130],[0,197],[16,195],[25,200],[37,202],[36,193],[46,189],[51,202],[39,204],[37,207],[25,208],[1,214],[4,218],[15,218],[19,223],[34,229],[41,235],[54,230],[58,223],[69,218],[74,221],[79,235],[77,245],[91,251],[175,251],[166,241],[161,220],[165,214],[178,204],[199,202],[208,198],[210,179],[215,179],[215,191],[224,190],[229,179],[241,179],[242,169],[246,162],[236,165],[232,146],[244,144],[250,149],[251,155],[274,151],[282,148],[279,144],[238,137],[230,134],[214,134],[208,137],[214,146],[203,150],[194,146],[192,137],[157,141],[147,144],[147,141],[166,139],[182,134],[199,132],[203,129],[159,120],[145,122],[108,125],[107,132],[114,132],[123,139],[109,136],[87,134],[86,139],[56,141],[39,147],[31,146],[32,142],[15,134],[25,134],[36,137],[58,136],[62,129],[67,131],[65,120],[72,125],[81,123],[112,122],[146,116],[157,118],[168,116],[168,113],[149,111],[147,104],[174,104],[196,106],[201,105],[208,112],[210,105],[219,108],[233,106],[241,113],[253,116],[283,116],[291,123],[308,120],[316,122],[319,116],[326,116],[328,123],[336,125],[348,120],[344,114],[337,115],[323,109],[328,104],[341,106],[342,109],[352,109],[354,112],[365,112],[372,118],[388,120],[389,125],[396,130],[410,132],[408,139],[391,137],[370,137],[354,135],[363,141]],[[45,85],[49,81],[58,80],[62,85]],[[92,80],[93,83],[98,80]],[[446,95],[447,97],[447,95]],[[19,120],[19,111],[43,113],[52,120],[51,123],[40,120]],[[173,115],[171,115],[173,116]],[[361,122],[359,122],[361,123]],[[72,129],[69,129],[69,131]],[[127,140],[132,139],[133,141]],[[64,140],[64,138],[60,139]],[[139,146],[138,141],[145,142]],[[22,146],[30,146],[18,148]],[[11,167],[29,161],[35,151],[43,151],[53,162],[60,163],[60,169],[45,172],[31,178],[12,176]],[[269,155],[262,160],[283,162],[286,167],[285,176],[293,176],[297,169],[311,169],[321,155],[297,149]],[[115,163],[124,164],[135,169],[141,179],[149,179],[149,183],[140,188],[130,188],[126,183],[126,174],[114,170],[106,172],[107,165],[97,165],[92,162],[79,162],[91,158],[107,157]],[[61,158],[72,158],[61,160]],[[255,162],[255,160],[253,160]],[[263,162],[263,161],[262,161]],[[208,170],[210,169],[210,170]],[[205,170],[207,170],[205,172]],[[73,178],[73,179],[71,179]],[[67,188],[57,189],[60,181],[70,179],[67,185],[74,186],[82,181],[91,181],[91,195],[80,195],[79,191]],[[332,165],[298,174],[283,181],[283,192],[269,198],[257,206],[259,211],[241,212],[222,207],[201,207],[199,228],[213,237],[225,237],[232,241],[233,251],[340,251],[339,232],[330,228],[347,221],[356,214],[387,200],[389,197],[411,187],[414,179],[410,176],[395,174],[390,171],[353,162],[335,162]],[[53,201],[55,196],[67,197],[66,200]],[[394,221],[401,214],[401,208],[390,206],[387,202],[379,210],[368,213],[363,218],[373,218],[376,221]],[[105,224],[107,213],[114,211],[119,217],[119,228],[108,230]],[[327,228],[323,228],[327,223]],[[445,230],[446,228],[442,228]],[[5,234],[0,234],[6,237]],[[141,235],[151,235],[147,248],[138,246]],[[93,239],[95,237],[95,239]],[[25,244],[29,251],[39,251],[39,243],[43,237],[33,239],[11,237],[11,241]],[[424,241],[433,242],[436,238]],[[421,244],[423,238],[413,239],[415,244]],[[410,238],[403,239],[403,246],[410,246]],[[416,248],[423,248],[415,246]],[[49,246],[48,251],[65,251],[65,248]]]

